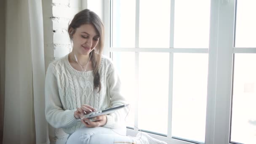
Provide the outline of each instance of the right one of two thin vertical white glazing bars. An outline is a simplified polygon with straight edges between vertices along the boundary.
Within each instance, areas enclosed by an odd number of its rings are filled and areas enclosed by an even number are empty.
[[[170,44],[169,48],[173,48],[174,42],[174,11],[175,0],[171,0],[170,9]],[[173,53],[169,53],[169,88],[168,88],[168,129],[167,137],[172,137],[172,104],[173,104]]]

